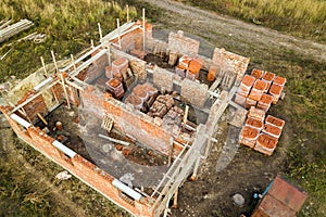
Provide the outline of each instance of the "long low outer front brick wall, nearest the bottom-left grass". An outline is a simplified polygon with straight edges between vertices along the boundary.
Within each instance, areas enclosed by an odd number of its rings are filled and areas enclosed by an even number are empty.
[[[52,142],[54,141],[53,138],[49,137],[39,128],[33,126],[28,127],[28,129],[25,130],[22,126],[18,126],[17,123],[9,117],[9,107],[0,106],[0,112],[4,114],[15,133],[21,139],[30,144],[34,149],[41,152],[48,158],[58,163],[70,173],[78,177],[80,180],[83,180],[85,183],[87,183],[91,188],[95,188],[97,191],[113,201],[115,204],[123,206],[134,215],[143,217],[153,216],[151,205],[148,203],[147,199],[145,203],[135,201],[135,205],[124,201],[120,196],[120,190],[112,184],[114,177],[98,168],[96,165],[88,162],[78,154],[76,154],[73,158],[65,156],[63,152],[52,145]]]

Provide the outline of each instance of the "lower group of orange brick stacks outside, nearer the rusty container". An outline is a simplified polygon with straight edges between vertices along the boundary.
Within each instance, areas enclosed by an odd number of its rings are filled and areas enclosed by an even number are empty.
[[[251,107],[241,129],[239,142],[265,155],[272,155],[280,137],[285,122],[265,111]]]

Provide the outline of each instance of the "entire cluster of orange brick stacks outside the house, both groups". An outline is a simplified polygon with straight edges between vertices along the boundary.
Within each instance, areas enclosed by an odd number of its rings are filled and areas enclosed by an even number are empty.
[[[239,136],[240,144],[268,156],[273,154],[285,122],[272,115],[266,117],[266,113],[280,99],[285,84],[286,78],[260,69],[244,75],[235,98],[236,103],[249,108]]]

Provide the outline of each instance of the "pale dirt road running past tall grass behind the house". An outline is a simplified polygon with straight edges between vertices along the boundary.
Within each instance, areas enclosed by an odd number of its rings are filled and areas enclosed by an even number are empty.
[[[230,47],[233,44],[239,47],[235,50],[252,49],[254,52],[285,49],[306,58],[311,56],[319,62],[326,61],[326,44],[287,36],[269,28],[221,16],[176,1],[143,1],[167,11],[165,22],[174,25],[176,29],[180,28],[204,38],[216,39],[216,46]]]

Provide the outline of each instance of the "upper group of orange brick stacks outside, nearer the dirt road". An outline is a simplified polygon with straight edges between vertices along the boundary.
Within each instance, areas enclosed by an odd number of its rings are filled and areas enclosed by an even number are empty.
[[[236,93],[235,102],[250,108],[255,106],[267,112],[271,104],[276,104],[280,98],[286,78],[274,73],[253,69],[251,75],[244,75]]]

